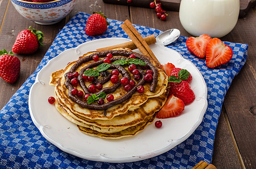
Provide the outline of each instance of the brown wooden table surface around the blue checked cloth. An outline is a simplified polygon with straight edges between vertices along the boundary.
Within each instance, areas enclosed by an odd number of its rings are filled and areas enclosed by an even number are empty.
[[[45,47],[40,47],[31,55],[15,55],[21,61],[21,71],[16,83],[9,84],[0,79],[1,109],[37,68],[59,30],[79,11],[88,14],[102,11],[109,19],[120,21],[129,19],[133,24],[162,31],[177,28],[181,35],[190,36],[181,25],[177,11],[167,11],[167,20],[160,21],[153,9],[114,5],[101,0],[78,0],[71,14],[54,25],[38,25],[25,19],[15,10],[10,0],[0,0],[0,9],[1,49],[10,51],[18,33],[30,25],[41,30],[45,35]],[[248,14],[238,19],[232,32],[221,39],[247,43],[249,49],[248,59],[240,73],[233,79],[224,99],[216,130],[212,164],[217,168],[256,168],[256,7],[250,7]]]

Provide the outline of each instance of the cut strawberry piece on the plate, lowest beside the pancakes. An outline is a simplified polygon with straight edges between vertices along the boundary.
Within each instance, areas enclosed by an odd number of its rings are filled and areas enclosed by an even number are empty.
[[[168,97],[166,104],[159,110],[157,118],[169,118],[179,115],[185,108],[183,100],[171,95]]]

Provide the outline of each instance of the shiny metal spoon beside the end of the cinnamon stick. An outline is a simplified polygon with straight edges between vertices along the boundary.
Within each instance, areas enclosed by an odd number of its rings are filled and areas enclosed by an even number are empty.
[[[159,34],[155,39],[157,40],[157,43],[159,43],[160,45],[167,46],[172,42],[175,42],[176,39],[179,37],[180,37],[180,30],[169,29]]]

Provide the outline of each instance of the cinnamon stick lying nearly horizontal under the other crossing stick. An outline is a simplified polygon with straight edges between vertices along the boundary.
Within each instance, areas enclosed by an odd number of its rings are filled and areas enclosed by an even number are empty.
[[[155,39],[155,36],[153,34],[149,35],[148,37],[145,37],[143,38],[144,41],[147,43],[147,45],[151,45],[156,41]],[[107,50],[111,50],[113,48],[118,48],[118,47],[121,47],[121,48],[129,48],[131,50],[134,50],[137,48],[136,45],[134,45],[134,43],[132,41],[130,42],[125,42],[125,43],[120,43],[118,45],[113,45],[113,46],[108,46],[108,47],[102,47],[102,48],[98,48],[97,51],[107,51]]]

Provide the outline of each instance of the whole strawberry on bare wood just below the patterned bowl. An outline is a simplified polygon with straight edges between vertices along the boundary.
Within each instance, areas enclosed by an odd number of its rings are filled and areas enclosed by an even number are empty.
[[[31,29],[31,26],[29,26],[28,29],[22,30],[18,34],[14,46],[12,46],[12,51],[15,54],[33,54],[42,45],[42,37],[44,37],[44,34],[41,31]]]

